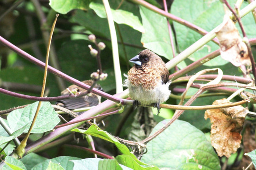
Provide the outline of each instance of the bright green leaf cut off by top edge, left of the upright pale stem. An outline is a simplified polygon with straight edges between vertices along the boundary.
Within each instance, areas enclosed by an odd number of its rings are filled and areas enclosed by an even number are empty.
[[[66,14],[73,9],[86,10],[91,0],[50,0],[49,5],[56,12]]]

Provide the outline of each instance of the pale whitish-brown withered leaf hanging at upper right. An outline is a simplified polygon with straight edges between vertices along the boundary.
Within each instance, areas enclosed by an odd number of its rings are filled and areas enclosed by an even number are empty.
[[[219,39],[222,59],[228,60],[236,67],[251,65],[247,46],[240,37],[234,22],[228,16],[224,17],[216,36]]]

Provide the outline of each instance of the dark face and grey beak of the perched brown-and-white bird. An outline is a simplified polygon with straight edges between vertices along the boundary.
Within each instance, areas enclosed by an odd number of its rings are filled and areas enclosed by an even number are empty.
[[[132,63],[135,63],[136,66],[142,66],[145,65],[147,62],[150,61],[150,59],[155,56],[156,54],[148,49],[140,51],[139,54],[129,61]]]

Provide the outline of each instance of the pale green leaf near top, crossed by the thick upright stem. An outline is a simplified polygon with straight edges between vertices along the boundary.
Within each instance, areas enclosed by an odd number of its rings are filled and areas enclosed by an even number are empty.
[[[105,8],[102,4],[91,2],[89,7],[93,9],[99,17],[107,18]],[[122,9],[111,9],[111,12],[113,15],[113,20],[116,23],[128,25],[141,33],[145,32],[139,18],[137,16],[134,16],[133,13]]]

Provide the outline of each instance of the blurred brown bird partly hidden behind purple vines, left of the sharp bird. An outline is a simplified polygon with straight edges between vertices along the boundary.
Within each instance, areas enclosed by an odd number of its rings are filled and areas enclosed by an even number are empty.
[[[85,80],[85,81],[82,81],[82,83],[85,83],[86,85],[91,86],[94,83],[94,81],[93,80]],[[102,90],[101,86],[97,85],[97,84],[94,86],[94,88]],[[61,92],[61,95],[68,95],[71,93],[70,91],[75,91],[75,93],[87,92],[87,90],[85,90],[77,85],[70,85],[67,89],[65,89],[64,91]],[[69,110],[73,110],[73,109],[96,106],[100,103],[101,103],[101,96],[94,94],[94,93],[89,93],[82,97],[69,98],[69,99],[57,101],[56,105],[62,106]],[[83,112],[78,112],[77,114],[80,115],[82,113]]]

